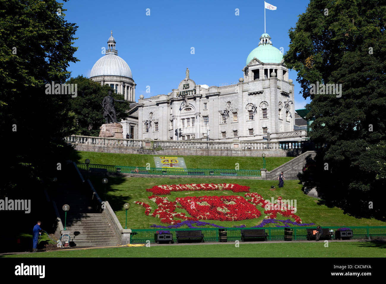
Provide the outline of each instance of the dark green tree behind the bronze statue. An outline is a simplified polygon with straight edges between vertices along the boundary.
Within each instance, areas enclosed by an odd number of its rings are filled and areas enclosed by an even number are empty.
[[[78,96],[71,100],[71,112],[74,113],[76,134],[85,136],[99,136],[99,128],[106,123],[103,117],[102,100],[107,92],[112,90],[108,85],[101,85],[86,77],[78,76],[71,78],[68,83],[78,84]],[[117,100],[124,100],[124,95],[112,96]],[[126,119],[129,102],[115,103],[117,120]]]

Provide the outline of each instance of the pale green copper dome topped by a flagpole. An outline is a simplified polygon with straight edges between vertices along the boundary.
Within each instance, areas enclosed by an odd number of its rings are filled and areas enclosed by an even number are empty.
[[[261,35],[259,46],[249,53],[246,65],[254,57],[262,63],[280,63],[283,60],[283,54],[279,49],[272,46],[271,37],[266,33]]]

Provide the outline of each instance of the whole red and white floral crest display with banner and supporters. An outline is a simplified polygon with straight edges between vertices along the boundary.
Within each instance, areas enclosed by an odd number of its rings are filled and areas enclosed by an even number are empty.
[[[157,205],[157,208],[151,213],[152,207],[141,201],[134,201],[133,203],[139,204],[145,208],[145,214],[154,218],[159,218],[161,223],[177,225],[184,224],[191,228],[191,224],[197,224],[197,226],[203,226],[200,220],[218,220],[218,221],[242,221],[246,219],[256,219],[261,216],[261,212],[256,206],[261,206],[266,209],[264,214],[264,224],[277,223],[274,220],[277,214],[281,214],[286,218],[293,218],[295,222],[283,221],[287,226],[289,222],[292,224],[300,225],[302,221],[299,216],[291,213],[294,208],[289,205],[281,206],[278,210],[275,204],[264,200],[264,198],[256,193],[249,192],[250,187],[239,184],[174,184],[174,185],[157,185],[151,189],[146,189],[147,192],[152,192],[152,196],[149,196],[149,200]],[[169,201],[168,197],[162,197],[160,195],[170,195],[170,193],[176,191],[224,191],[231,190],[232,192],[247,192],[244,197],[242,196],[186,196],[176,198],[175,201]],[[281,197],[278,198],[278,202],[281,202]],[[180,204],[181,206],[177,205]],[[276,204],[277,205],[277,204]],[[176,212],[176,208],[185,209],[191,217],[186,216],[185,213]],[[176,219],[175,219],[176,218]],[[266,221],[265,221],[266,220]],[[201,224],[200,224],[201,223]],[[215,224],[210,224],[219,228]],[[276,225],[279,226],[279,225]],[[157,226],[157,228],[166,228],[164,226]],[[171,228],[171,227],[168,227]]]

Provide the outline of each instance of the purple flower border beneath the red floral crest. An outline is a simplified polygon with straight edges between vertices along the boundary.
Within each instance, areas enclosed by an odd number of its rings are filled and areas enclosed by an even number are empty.
[[[299,224],[299,223],[296,223],[296,222],[293,222],[289,219],[287,220],[276,220],[276,219],[264,219],[261,224],[259,225],[256,225],[256,226],[253,226],[251,228],[262,228],[264,227],[266,224],[269,224],[269,223],[276,223],[276,224],[279,224],[278,223],[281,222],[284,224],[284,226],[281,226],[281,225],[275,225],[276,227],[289,227],[289,224],[291,225],[295,225],[295,226],[311,226],[311,225],[315,225],[314,223],[309,223],[309,224]],[[193,224],[196,224],[196,226],[206,226],[206,225],[210,225],[210,226],[213,226],[215,228],[227,228],[227,227],[223,227],[223,226],[218,226],[216,224],[212,224],[212,223],[208,223],[208,222],[203,222],[203,221],[190,221],[190,220],[186,220],[186,221],[182,221],[181,223],[178,223],[178,224],[175,224],[175,225],[170,225],[170,226],[162,226],[162,225],[156,225],[156,224],[152,224],[150,227],[153,227],[153,228],[164,228],[164,229],[178,229],[179,227],[181,226],[188,226],[188,228],[191,228],[191,229],[199,229],[198,227],[195,227],[193,226]],[[239,225],[239,226],[234,226],[233,228],[245,228],[246,226],[245,225]],[[347,228],[346,228],[347,229]]]

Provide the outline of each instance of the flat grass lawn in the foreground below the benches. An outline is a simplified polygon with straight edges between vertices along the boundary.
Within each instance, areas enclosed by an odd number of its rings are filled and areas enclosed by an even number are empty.
[[[369,242],[239,243],[117,247],[6,255],[4,257],[385,257],[384,244]]]

